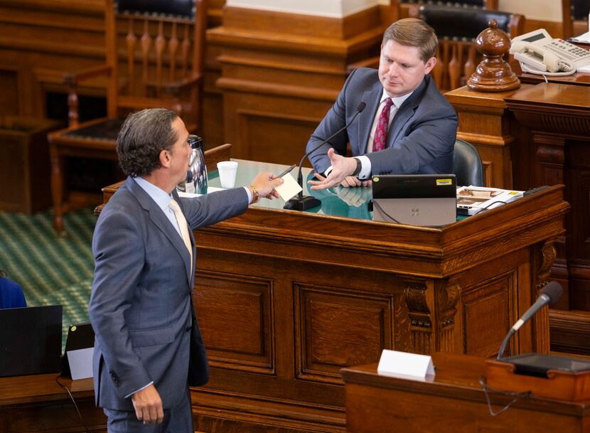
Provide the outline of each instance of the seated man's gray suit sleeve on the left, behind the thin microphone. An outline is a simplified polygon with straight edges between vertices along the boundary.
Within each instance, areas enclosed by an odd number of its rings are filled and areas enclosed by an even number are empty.
[[[353,80],[355,73],[357,70],[353,70],[348,76],[348,79],[344,83],[344,87],[340,91],[340,95],[338,95],[338,99],[334,102],[332,108],[326,113],[326,116],[322,119],[320,124],[316,130],[311,134],[309,141],[307,142],[306,152],[311,151],[314,147],[318,146],[323,140],[330,137],[334,134],[338,129],[343,128],[346,124],[346,92],[348,89],[348,85]],[[348,101],[348,105],[354,105],[352,101]],[[356,105],[355,105],[356,107]],[[328,149],[331,147],[340,154],[345,156],[346,155],[346,144],[348,144],[348,132],[344,130],[340,132],[340,134],[336,135],[328,141],[328,143],[321,146],[318,150],[314,151],[313,154],[309,155],[309,161],[311,161],[311,165],[313,169],[316,170],[318,173],[323,173],[331,166],[330,159],[328,158]]]

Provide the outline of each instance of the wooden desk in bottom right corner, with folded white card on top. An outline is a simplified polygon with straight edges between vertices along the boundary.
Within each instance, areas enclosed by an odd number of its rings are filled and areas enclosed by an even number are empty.
[[[342,370],[348,433],[588,433],[590,399],[564,402],[527,397],[492,417],[483,388],[485,361],[476,356],[434,353],[433,380],[377,375],[377,365]],[[513,397],[490,393],[498,411]]]

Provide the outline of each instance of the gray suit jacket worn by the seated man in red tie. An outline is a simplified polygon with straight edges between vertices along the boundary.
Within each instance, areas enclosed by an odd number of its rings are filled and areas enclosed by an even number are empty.
[[[331,165],[326,156],[330,146],[345,155],[350,141],[353,156],[366,154],[382,92],[377,70],[359,68],[350,74],[336,103],[311,135],[306,151],[350,122],[360,102],[366,107],[348,129],[309,156],[318,173]],[[427,75],[397,110],[387,132],[386,148],[367,154],[372,174],[452,173],[456,132],[455,110]]]

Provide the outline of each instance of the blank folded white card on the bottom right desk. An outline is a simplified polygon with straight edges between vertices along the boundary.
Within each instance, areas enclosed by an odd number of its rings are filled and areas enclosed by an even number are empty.
[[[384,349],[381,353],[377,373],[385,376],[409,376],[424,379],[427,376],[434,376],[434,366],[431,356]]]

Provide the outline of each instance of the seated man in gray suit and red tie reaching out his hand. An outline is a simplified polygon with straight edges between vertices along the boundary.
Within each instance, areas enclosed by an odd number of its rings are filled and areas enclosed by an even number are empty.
[[[379,69],[359,68],[311,135],[307,151],[358,119],[309,156],[318,181],[311,189],[368,186],[376,174],[451,173],[457,132],[455,110],[428,75],[438,39],[417,18],[393,23],[383,35]],[[350,142],[353,157],[346,158]]]

